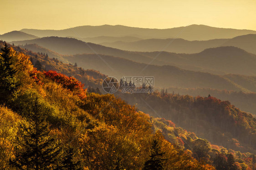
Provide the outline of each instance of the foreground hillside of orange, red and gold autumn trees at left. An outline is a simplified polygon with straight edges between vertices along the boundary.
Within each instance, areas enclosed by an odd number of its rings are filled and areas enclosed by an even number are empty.
[[[164,169],[214,170],[165,140],[148,115],[123,100],[81,96],[84,89],[74,78],[36,70],[28,55],[12,48],[8,54],[16,70],[10,79],[19,86],[5,93],[0,106],[3,169],[142,169],[158,140]]]

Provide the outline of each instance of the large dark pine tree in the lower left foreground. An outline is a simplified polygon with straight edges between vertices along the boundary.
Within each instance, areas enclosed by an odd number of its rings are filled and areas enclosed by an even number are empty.
[[[26,123],[20,123],[15,158],[10,160],[10,165],[21,170],[48,170],[58,165],[61,149],[56,139],[50,135],[44,108],[36,98],[31,103],[30,110],[24,110]]]

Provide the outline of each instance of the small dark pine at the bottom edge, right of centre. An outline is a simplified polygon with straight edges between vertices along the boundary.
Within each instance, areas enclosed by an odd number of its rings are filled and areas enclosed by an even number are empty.
[[[161,157],[163,157],[164,152],[161,152],[158,140],[153,140],[150,150],[150,159],[145,162],[143,170],[163,170],[163,161],[165,159]]]

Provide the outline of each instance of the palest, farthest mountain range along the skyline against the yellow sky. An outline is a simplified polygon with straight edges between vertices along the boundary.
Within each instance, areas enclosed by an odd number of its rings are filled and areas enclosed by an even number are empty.
[[[143,39],[150,38],[182,38],[185,40],[212,40],[229,39],[239,35],[256,34],[254,30],[236,30],[226,28],[215,28],[206,25],[189,25],[169,29],[136,28],[123,25],[101,25],[101,26],[78,26],[65,30],[35,30],[22,29],[22,32],[39,37],[97,37],[97,36],[134,36]]]

